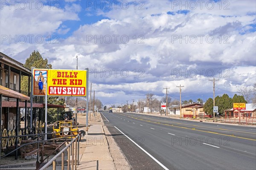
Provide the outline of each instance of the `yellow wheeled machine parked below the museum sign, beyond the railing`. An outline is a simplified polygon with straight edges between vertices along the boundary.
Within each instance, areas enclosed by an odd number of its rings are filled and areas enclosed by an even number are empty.
[[[77,135],[79,133],[77,124],[73,120],[57,121],[53,124],[52,128],[53,128],[52,138]],[[72,132],[69,132],[69,131],[72,131]]]

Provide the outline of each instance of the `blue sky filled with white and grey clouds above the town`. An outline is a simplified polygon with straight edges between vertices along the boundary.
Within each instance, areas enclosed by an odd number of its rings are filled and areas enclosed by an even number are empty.
[[[206,101],[256,82],[255,0],[0,0],[0,51],[89,68],[102,103],[153,93]]]

